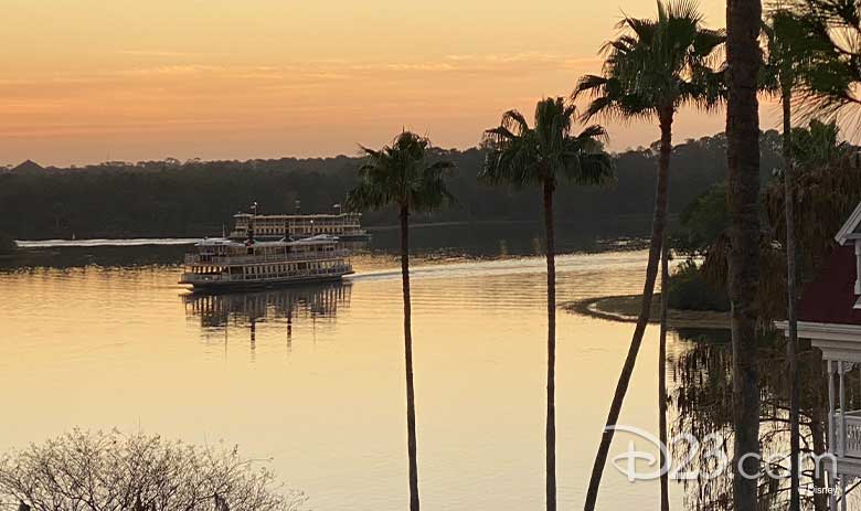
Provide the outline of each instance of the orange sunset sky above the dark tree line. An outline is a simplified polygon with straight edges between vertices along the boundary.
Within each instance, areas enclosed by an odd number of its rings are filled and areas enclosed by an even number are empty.
[[[0,163],[354,155],[402,128],[468,148],[597,73],[653,0],[3,0]],[[710,26],[725,3],[704,0]],[[777,110],[763,106],[764,128]],[[658,138],[604,123],[610,149]],[[680,113],[676,140],[723,130]]]

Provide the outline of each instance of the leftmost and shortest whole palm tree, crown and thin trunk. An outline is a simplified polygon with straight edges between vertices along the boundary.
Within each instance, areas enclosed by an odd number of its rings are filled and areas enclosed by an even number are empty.
[[[410,458],[410,511],[418,511],[413,333],[410,310],[410,214],[434,211],[453,200],[445,179],[454,166],[428,161],[431,141],[403,131],[380,150],[362,147],[368,161],[359,169],[359,184],[348,194],[353,209],[395,206],[401,220],[401,279],[404,296],[404,360],[406,366],[406,433]]]

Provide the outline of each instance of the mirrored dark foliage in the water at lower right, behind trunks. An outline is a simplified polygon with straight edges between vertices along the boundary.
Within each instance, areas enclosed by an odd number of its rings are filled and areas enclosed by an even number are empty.
[[[726,473],[709,477],[710,473],[718,473],[719,459],[715,455],[729,460],[733,454],[732,350],[729,331],[687,330],[679,332],[679,339],[688,341],[687,348],[667,362],[672,375],[671,407],[676,412],[670,436],[690,434],[703,440],[714,435],[721,440],[699,446],[681,441],[672,446],[676,462],[684,465],[685,470],[699,472],[697,478],[684,481],[685,509],[729,509],[732,502],[731,478]],[[759,440],[764,459],[764,475],[759,478],[759,509],[783,510],[789,501],[786,341],[776,334],[762,334],[758,343],[762,393]],[[809,343],[800,353],[799,372],[801,454],[821,455],[826,450],[827,384],[821,353],[811,350]],[[857,380],[847,381],[847,384],[850,402],[861,397],[854,392],[859,387]],[[804,509],[823,510],[827,496],[812,490],[825,487],[825,478],[817,475],[814,468],[809,460],[801,465],[802,505]]]

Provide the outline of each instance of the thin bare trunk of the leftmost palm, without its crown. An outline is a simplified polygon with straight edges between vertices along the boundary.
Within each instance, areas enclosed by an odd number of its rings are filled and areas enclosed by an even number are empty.
[[[415,390],[413,387],[413,328],[410,308],[410,211],[401,206],[401,281],[404,291],[404,360],[406,365],[406,449],[410,458],[410,511],[418,511]]]

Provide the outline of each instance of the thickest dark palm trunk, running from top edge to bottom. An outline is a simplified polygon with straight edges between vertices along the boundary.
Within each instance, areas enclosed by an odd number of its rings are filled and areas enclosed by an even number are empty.
[[[726,162],[733,348],[733,509],[757,509],[759,383],[755,297],[759,278],[759,0],[727,0]],[[745,475],[752,475],[753,477]]]

